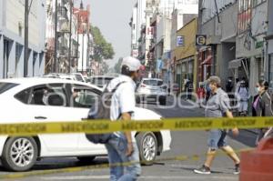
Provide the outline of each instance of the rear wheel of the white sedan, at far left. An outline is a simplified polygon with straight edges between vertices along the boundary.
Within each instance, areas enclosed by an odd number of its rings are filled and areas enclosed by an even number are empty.
[[[38,148],[32,137],[11,137],[4,146],[3,166],[11,171],[26,171],[35,165]]]

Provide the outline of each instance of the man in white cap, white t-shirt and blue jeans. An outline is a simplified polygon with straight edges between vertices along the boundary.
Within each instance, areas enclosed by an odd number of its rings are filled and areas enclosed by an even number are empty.
[[[121,75],[113,79],[107,89],[111,92],[116,88],[112,96],[110,107],[110,119],[112,121],[130,121],[136,106],[135,89],[138,70],[141,64],[139,60],[128,56],[121,64]],[[131,132],[116,132],[106,144],[110,165],[110,180],[136,180],[140,176],[139,152],[136,139]],[[116,166],[132,162],[129,166]]]

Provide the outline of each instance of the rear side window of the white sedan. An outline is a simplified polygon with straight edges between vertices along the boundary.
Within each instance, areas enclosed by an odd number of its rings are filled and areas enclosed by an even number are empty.
[[[30,105],[67,106],[66,89],[63,85],[40,85],[32,89]]]

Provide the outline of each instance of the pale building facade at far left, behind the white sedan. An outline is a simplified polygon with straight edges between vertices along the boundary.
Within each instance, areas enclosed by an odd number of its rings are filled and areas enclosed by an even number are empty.
[[[33,1],[30,6],[26,60],[24,60],[25,1],[0,1],[0,14],[0,78],[24,76],[24,64],[27,64],[27,76],[43,75],[45,0]]]

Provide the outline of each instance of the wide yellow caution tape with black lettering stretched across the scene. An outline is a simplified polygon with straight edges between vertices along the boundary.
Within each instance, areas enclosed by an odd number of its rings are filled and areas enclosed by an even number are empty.
[[[35,136],[62,133],[112,133],[116,131],[188,131],[204,129],[261,128],[273,126],[273,117],[167,118],[151,121],[90,120],[77,122],[0,124],[0,135]]]

